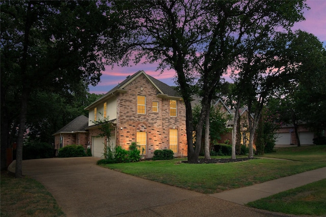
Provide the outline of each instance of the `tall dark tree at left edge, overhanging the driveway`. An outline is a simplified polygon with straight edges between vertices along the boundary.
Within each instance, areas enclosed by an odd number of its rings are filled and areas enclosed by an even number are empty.
[[[93,1],[1,2],[1,58],[2,63],[5,61],[1,64],[1,86],[6,88],[1,92],[2,108],[15,95],[13,106],[19,110],[16,177],[22,176],[22,145],[31,94],[37,90],[73,92],[74,84],[82,81],[96,84],[104,70],[102,50],[113,42],[110,34],[116,34],[110,15],[106,3]],[[2,118],[8,117],[7,111],[2,111]],[[1,127],[8,132],[9,126],[2,123]],[[2,139],[2,169],[7,145]]]

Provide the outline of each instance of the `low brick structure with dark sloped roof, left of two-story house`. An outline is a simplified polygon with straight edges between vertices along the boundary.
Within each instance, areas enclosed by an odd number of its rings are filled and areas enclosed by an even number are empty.
[[[55,149],[62,148],[65,145],[81,144],[84,148],[88,145],[88,117],[80,115],[70,121],[68,125],[61,128],[53,136],[55,136]]]

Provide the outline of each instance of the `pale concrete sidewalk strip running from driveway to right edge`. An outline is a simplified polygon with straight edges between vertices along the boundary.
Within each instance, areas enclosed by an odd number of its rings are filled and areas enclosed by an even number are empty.
[[[210,196],[243,205],[324,178],[326,178],[326,167]]]

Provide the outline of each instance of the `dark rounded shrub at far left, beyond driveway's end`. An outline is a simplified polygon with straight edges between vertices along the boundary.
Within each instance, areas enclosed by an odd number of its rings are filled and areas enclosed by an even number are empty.
[[[22,146],[22,159],[53,158],[55,156],[52,145],[46,142],[35,142]]]

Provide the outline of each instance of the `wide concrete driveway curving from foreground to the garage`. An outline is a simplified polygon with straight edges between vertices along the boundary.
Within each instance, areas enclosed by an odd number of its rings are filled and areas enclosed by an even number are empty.
[[[25,160],[23,174],[40,181],[67,216],[290,216],[105,169],[98,160]]]

